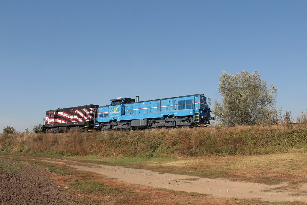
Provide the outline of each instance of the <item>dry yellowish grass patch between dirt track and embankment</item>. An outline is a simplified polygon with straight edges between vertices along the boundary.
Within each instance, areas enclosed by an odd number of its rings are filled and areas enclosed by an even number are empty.
[[[306,153],[293,152],[260,156],[206,156],[163,164],[154,163],[152,166],[148,163],[146,167],[159,171],[179,169],[181,173],[204,178],[228,178],[233,181],[266,184],[291,181],[298,185],[307,183],[306,164]]]

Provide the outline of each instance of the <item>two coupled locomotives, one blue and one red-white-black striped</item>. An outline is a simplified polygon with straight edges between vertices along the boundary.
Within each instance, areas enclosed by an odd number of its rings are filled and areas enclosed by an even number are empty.
[[[42,131],[95,132],[104,130],[154,129],[159,127],[205,127],[210,125],[211,100],[204,94],[139,101],[111,99],[108,105],[89,104],[48,110]]]

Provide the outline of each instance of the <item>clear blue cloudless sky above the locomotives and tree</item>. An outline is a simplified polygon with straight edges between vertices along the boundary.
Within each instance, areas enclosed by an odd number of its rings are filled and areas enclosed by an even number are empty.
[[[307,108],[307,1],[0,1],[0,131],[46,111],[203,93],[258,70]],[[212,104],[213,106],[213,104]]]

